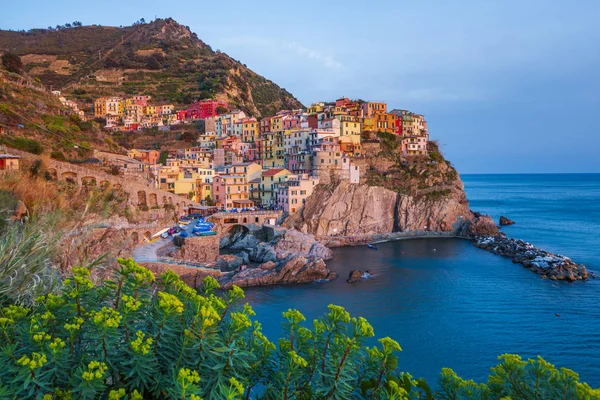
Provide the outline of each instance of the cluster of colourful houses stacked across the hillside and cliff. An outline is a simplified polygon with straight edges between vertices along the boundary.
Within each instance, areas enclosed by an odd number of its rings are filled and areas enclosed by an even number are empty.
[[[77,103],[53,92],[85,118]],[[153,104],[150,96],[103,97],[94,101],[93,118],[109,131],[136,135],[143,129],[172,126],[195,129],[197,142],[168,152],[131,149],[99,158],[116,173],[214,208],[268,209],[293,214],[319,184],[332,180],[360,183],[366,133],[395,135],[402,157],[426,157],[429,133],[423,115],[388,111],[381,101],[315,103],[306,110],[282,110],[254,118],[223,100],[200,100],[182,110]]]

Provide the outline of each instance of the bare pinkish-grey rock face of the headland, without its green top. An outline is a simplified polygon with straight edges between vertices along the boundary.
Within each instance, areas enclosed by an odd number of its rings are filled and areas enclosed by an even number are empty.
[[[414,230],[460,231],[473,213],[460,178],[444,196],[423,190],[402,194],[380,186],[341,182],[320,185],[304,208],[286,221],[316,236],[352,236]]]

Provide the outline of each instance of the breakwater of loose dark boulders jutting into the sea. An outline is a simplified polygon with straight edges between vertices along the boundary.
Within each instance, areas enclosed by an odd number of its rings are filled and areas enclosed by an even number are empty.
[[[477,236],[474,244],[480,249],[511,258],[513,263],[523,265],[544,279],[574,282],[596,277],[584,265],[574,263],[568,257],[539,249],[523,240],[508,238],[503,233]]]

